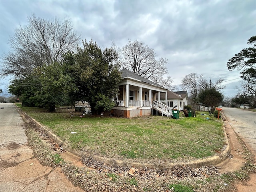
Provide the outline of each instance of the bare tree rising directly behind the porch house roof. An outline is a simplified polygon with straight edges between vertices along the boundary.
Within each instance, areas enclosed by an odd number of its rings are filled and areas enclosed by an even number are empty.
[[[132,42],[128,40],[128,44],[122,48],[120,52],[120,60],[123,68],[126,68],[135,74],[150,79],[156,83],[161,81],[163,85],[171,83],[171,78],[163,80],[163,76],[168,74],[166,64],[168,59],[156,59],[154,49],[149,48],[141,41]]]

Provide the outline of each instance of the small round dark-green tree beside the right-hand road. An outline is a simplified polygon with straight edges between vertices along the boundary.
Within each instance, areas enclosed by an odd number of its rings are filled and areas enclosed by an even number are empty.
[[[211,107],[211,111],[214,111],[216,105],[218,105],[224,96],[221,92],[216,90],[216,88],[207,88],[205,90],[201,90],[198,94],[198,101],[202,104]]]

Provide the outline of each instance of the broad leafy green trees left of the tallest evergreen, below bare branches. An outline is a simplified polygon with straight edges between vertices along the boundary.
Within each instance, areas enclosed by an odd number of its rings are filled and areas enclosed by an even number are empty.
[[[55,111],[57,104],[67,103],[67,93],[76,89],[60,63],[36,68],[24,77],[12,80],[9,92],[20,98],[22,106],[38,106]]]

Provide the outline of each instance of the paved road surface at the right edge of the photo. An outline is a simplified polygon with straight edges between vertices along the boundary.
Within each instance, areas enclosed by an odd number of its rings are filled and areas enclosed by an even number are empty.
[[[222,112],[234,131],[256,154],[256,112],[223,107]]]

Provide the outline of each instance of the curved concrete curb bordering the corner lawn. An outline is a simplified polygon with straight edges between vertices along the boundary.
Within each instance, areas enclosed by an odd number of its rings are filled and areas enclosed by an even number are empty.
[[[16,109],[17,109],[17,107],[16,107]],[[189,166],[189,167],[193,167],[193,168],[199,168],[199,167],[202,167],[202,166],[211,166],[211,165],[215,166],[217,164],[220,164],[221,162],[223,162],[224,160],[226,160],[228,158],[228,155],[231,152],[230,144],[229,144],[228,137],[227,137],[227,134],[226,134],[226,131],[225,131],[225,126],[223,126],[223,131],[224,131],[224,135],[225,135],[225,138],[226,138],[226,142],[225,142],[226,143],[226,148],[225,148],[225,150],[222,151],[220,153],[220,155],[218,155],[218,156],[212,156],[212,157],[208,157],[208,158],[205,158],[205,159],[198,159],[198,160],[192,160],[190,162],[178,162],[178,163],[165,162],[165,165],[162,165],[162,164],[160,165],[160,164],[146,164],[146,163],[132,162],[132,161],[124,162],[123,160],[115,160],[115,159],[112,159],[112,158],[105,158],[105,157],[103,158],[103,157],[96,156],[96,155],[89,156],[86,153],[82,153],[82,152],[79,152],[76,149],[70,148],[70,146],[68,146],[62,140],[60,140],[55,134],[53,134],[52,132],[47,130],[46,126],[42,126],[42,124],[40,124],[39,122],[37,122],[36,120],[34,120],[30,116],[28,116],[25,112],[23,112],[23,111],[21,111],[21,112],[24,114],[24,116],[26,116],[26,118],[29,118],[38,128],[43,129],[44,132],[46,134],[48,134],[48,136],[54,142],[61,145],[64,150],[78,156],[79,158],[82,158],[82,156],[84,156],[86,158],[90,157],[90,158],[92,158],[92,159],[94,159],[98,162],[102,162],[102,163],[108,164],[108,165],[115,165],[115,166],[120,166],[120,167],[122,167],[122,166],[135,166],[135,167],[147,167],[147,168],[159,168],[159,167],[172,168],[174,166],[178,166],[178,167]]]

